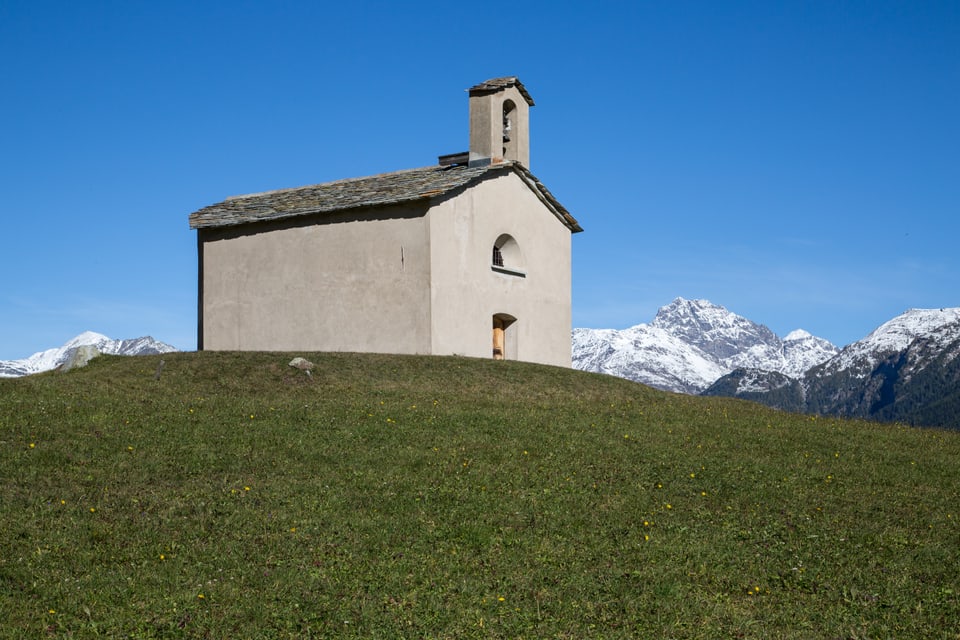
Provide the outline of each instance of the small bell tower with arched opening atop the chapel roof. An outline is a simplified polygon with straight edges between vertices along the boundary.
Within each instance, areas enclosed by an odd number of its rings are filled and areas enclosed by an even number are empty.
[[[530,167],[533,98],[516,76],[470,87],[470,166],[519,162]]]

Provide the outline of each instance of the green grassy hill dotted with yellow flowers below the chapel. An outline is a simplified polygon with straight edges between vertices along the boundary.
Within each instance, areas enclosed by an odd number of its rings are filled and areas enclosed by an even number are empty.
[[[0,637],[960,633],[958,433],[303,355],[0,380]]]

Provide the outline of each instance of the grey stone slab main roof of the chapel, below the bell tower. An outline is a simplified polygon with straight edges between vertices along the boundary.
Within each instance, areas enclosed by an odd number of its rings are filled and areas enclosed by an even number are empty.
[[[482,180],[517,174],[572,233],[583,231],[570,212],[523,165],[515,162],[478,167],[424,167],[366,178],[233,196],[190,214],[191,229],[229,227],[305,215],[422,201],[450,194]]]

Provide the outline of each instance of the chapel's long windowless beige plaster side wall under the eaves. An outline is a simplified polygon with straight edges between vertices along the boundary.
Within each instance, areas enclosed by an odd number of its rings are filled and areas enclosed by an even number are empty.
[[[203,348],[430,353],[424,210],[201,230]]]

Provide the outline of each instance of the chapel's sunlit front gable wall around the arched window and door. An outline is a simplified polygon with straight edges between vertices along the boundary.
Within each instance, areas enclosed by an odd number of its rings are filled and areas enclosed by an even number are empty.
[[[489,358],[492,318],[508,328],[507,358],[570,366],[571,234],[515,174],[485,180],[428,213],[432,352]],[[526,277],[491,268],[494,242],[510,234]]]

